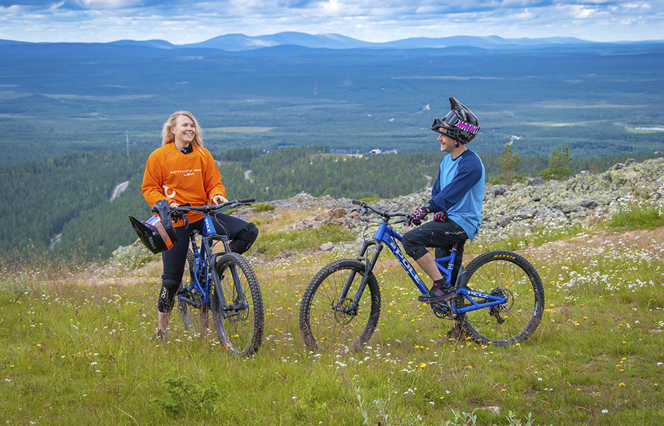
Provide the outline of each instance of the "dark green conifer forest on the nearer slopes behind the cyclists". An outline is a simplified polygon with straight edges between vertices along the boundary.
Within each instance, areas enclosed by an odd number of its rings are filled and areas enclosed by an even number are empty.
[[[326,146],[277,150],[235,148],[213,152],[228,199],[282,200],[299,192],[315,197],[389,198],[425,190],[438,173],[440,152],[383,155],[335,154]],[[654,154],[630,155],[638,160]],[[0,168],[3,203],[0,251],[4,258],[31,253],[104,261],[135,241],[128,215],[148,219],[140,185],[148,154],[137,151],[72,153]],[[501,175],[499,153],[482,154],[487,177]],[[627,158],[570,158],[570,173],[599,172]],[[521,176],[537,176],[550,156],[520,158]],[[245,178],[245,172],[251,170]],[[127,189],[114,200],[121,182]],[[418,207],[418,206],[413,206]]]

